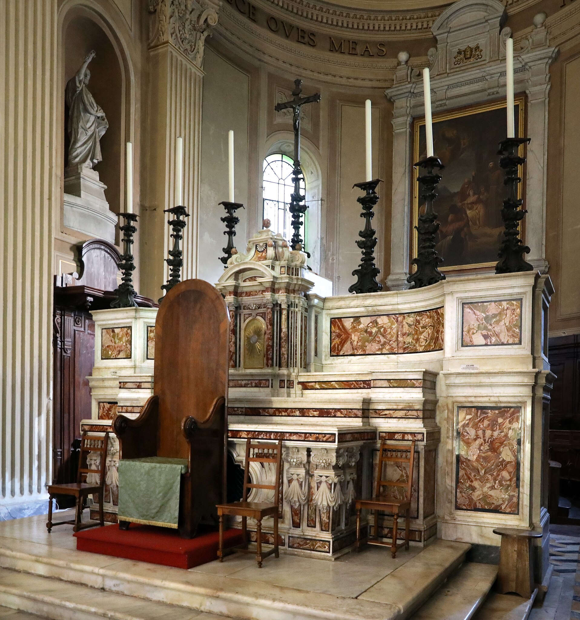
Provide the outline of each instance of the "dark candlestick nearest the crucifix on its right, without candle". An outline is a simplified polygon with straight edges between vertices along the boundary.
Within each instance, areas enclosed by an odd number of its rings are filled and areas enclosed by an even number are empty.
[[[380,179],[372,179],[362,183],[355,183],[353,187],[358,187],[364,196],[356,199],[362,205],[361,218],[364,218],[364,229],[359,231],[359,239],[356,245],[362,250],[362,260],[358,269],[353,271],[356,275],[356,282],[348,287],[349,293],[378,293],[382,291],[382,284],[377,281],[377,275],[380,269],[374,263],[374,248],[377,245],[376,231],[371,228],[371,219],[374,217],[373,208],[379,201],[379,195],[376,193],[377,185]]]

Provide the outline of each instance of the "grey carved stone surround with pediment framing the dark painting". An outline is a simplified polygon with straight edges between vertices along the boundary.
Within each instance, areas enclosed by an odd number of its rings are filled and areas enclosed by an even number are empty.
[[[498,0],[459,0],[439,15],[432,29],[437,48],[428,53],[434,116],[505,96],[505,40],[511,34],[504,27],[505,21],[506,10]],[[525,167],[525,244],[532,249],[527,260],[542,272],[548,267],[545,214],[549,69],[557,55],[557,50],[548,45],[544,21],[538,15],[534,17],[529,37],[514,45],[515,90],[527,95],[527,137],[531,138]],[[481,58],[476,60],[473,50],[477,45]],[[468,47],[473,60],[455,64],[458,53],[465,59]],[[411,182],[415,176],[408,161],[413,119],[424,116],[421,70],[411,69],[406,58],[398,60],[394,86],[385,91],[393,102],[393,153],[400,154],[393,157],[391,273],[387,278],[392,290],[408,286]]]

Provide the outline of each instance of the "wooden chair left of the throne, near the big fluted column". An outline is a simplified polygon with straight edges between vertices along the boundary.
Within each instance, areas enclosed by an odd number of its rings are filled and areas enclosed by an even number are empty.
[[[79,529],[92,528],[97,525],[96,521],[90,521],[81,525],[82,511],[84,510],[84,501],[89,495],[99,495],[99,525],[105,525],[103,515],[103,487],[105,486],[105,465],[107,463],[107,446],[108,432],[105,436],[89,435],[87,431],[82,433],[81,437],[81,453],[79,454],[79,468],[77,470],[77,481],[68,482],[66,484],[51,484],[48,486],[48,521],[46,529],[50,534],[51,529],[55,525],[64,525],[69,523],[73,525],[73,531]],[[89,466],[90,454],[99,454],[99,469],[91,469]],[[85,465],[83,467],[83,465]],[[98,482],[92,481],[90,478],[98,474]],[[82,477],[85,477],[85,482]],[[90,477],[89,477],[90,476]],[[89,480],[89,482],[87,482]],[[56,521],[52,520],[52,502],[55,495],[74,495],[76,499],[76,513],[74,521]]]

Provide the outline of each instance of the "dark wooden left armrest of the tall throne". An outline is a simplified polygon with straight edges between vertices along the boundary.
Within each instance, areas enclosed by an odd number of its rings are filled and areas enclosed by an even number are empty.
[[[119,440],[119,458],[138,459],[157,454],[159,396],[151,396],[134,420],[117,415],[113,431]]]

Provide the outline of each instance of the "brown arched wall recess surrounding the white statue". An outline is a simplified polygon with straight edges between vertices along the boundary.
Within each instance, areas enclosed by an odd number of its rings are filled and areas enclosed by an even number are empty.
[[[98,6],[75,1],[65,2],[60,17],[62,167],[68,160],[68,114],[65,110],[66,82],[76,74],[90,50],[97,55],[89,64],[89,91],[107,116],[108,129],[100,139],[103,160],[95,166],[99,180],[107,185],[105,197],[109,209],[125,209],[125,143],[130,140],[130,93],[132,83],[128,55],[112,21]],[[117,239],[118,241],[118,239]]]

